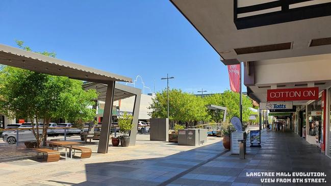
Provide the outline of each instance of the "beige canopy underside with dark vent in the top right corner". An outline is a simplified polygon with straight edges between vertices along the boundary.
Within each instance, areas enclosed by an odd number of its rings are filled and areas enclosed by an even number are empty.
[[[313,18],[320,13],[330,14],[329,1],[201,1],[201,0],[170,0],[170,2],[185,16],[194,28],[205,38],[208,43],[221,56],[225,65],[239,64],[240,61],[260,61],[298,56],[329,54],[330,44],[309,47],[310,41],[330,37],[331,16]],[[303,2],[303,3],[302,3]],[[255,28],[238,30],[235,24],[235,14],[251,10],[248,13],[263,13],[256,16],[242,17],[246,25],[259,24],[271,21],[268,11],[281,9],[270,7],[270,4],[295,4],[302,5],[302,11],[297,12],[298,21],[283,22],[282,18],[293,19],[295,16],[285,15],[294,11],[287,9],[274,17],[278,24],[258,26]],[[301,4],[302,3],[302,4]],[[235,7],[238,4],[238,8]],[[246,6],[246,5],[251,6]],[[260,5],[258,5],[260,4]],[[305,6],[303,4],[315,4]],[[316,11],[315,8],[327,8],[325,11]],[[244,10],[245,9],[245,10]],[[297,9],[298,10],[298,9]],[[253,17],[265,20],[254,21]],[[316,26],[318,25],[318,26]]]

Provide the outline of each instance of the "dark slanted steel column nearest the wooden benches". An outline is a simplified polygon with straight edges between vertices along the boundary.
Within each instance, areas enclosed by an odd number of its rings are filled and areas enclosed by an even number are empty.
[[[107,86],[103,123],[101,125],[98,153],[107,153],[109,145],[109,135],[111,127],[112,110],[114,103],[115,82],[110,82]]]

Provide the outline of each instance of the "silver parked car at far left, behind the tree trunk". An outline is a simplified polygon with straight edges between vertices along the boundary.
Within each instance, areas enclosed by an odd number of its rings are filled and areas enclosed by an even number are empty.
[[[19,128],[19,127],[18,127]],[[15,144],[17,141],[17,130],[11,130],[3,136],[4,142]],[[32,129],[18,130],[18,142],[36,141],[36,137]]]

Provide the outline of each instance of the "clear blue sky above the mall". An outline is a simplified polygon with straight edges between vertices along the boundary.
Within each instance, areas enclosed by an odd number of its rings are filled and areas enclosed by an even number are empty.
[[[35,51],[125,75],[145,93],[166,87],[223,92],[227,68],[185,17],[164,1],[1,1],[0,43],[23,40]],[[141,79],[137,86],[142,88]],[[243,88],[243,91],[246,89]]]

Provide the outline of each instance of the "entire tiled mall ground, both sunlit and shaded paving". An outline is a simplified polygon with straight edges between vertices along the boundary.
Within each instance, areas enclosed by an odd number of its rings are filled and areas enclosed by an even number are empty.
[[[324,184],[262,184],[260,177],[246,177],[246,172],[325,172],[329,175],[331,160],[291,133],[264,132],[262,148],[247,147],[245,160],[230,152],[224,153],[221,142],[191,149],[162,142],[144,141],[143,144],[145,146],[138,145],[139,148],[131,150],[119,147],[117,155],[107,158],[93,154],[98,162],[86,162],[84,167],[78,168],[78,160],[68,162],[71,166],[64,161],[50,163],[57,165],[49,168],[50,172],[56,173],[48,174],[48,177],[34,174],[33,181],[16,185],[331,185],[329,176]],[[64,164],[66,167],[59,171],[60,165]],[[0,175],[14,174],[2,172],[12,170],[3,169],[1,165]],[[31,170],[36,168],[34,165],[29,167]]]

